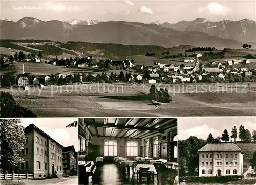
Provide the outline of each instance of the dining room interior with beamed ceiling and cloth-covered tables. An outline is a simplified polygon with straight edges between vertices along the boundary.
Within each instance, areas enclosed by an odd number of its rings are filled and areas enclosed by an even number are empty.
[[[177,118],[78,120],[79,184],[173,184]]]

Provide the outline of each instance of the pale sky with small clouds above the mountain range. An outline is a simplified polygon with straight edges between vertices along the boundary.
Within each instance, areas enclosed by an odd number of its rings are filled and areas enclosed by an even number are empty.
[[[211,21],[256,19],[256,1],[131,1],[131,0],[88,0],[88,1],[3,1],[1,19],[18,21],[23,17],[34,17],[42,21],[99,20],[153,21],[176,23],[206,18]],[[27,7],[27,8],[24,8]],[[29,10],[36,7],[36,10]]]

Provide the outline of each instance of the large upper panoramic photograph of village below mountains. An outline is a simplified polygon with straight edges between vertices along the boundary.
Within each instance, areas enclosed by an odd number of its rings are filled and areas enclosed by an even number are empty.
[[[5,1],[0,26],[1,117],[255,116],[255,1]]]

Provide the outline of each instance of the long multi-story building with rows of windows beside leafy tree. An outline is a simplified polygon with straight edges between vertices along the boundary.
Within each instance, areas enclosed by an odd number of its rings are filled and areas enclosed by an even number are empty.
[[[15,169],[20,168],[20,173],[33,174],[34,178],[62,175],[63,146],[34,124],[27,126],[24,132],[26,141],[20,156],[25,162],[18,164]]]

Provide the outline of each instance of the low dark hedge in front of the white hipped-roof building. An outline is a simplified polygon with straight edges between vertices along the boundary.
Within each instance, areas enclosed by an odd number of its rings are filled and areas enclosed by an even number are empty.
[[[210,176],[210,177],[179,177],[179,182],[225,183],[242,180],[242,175]]]

